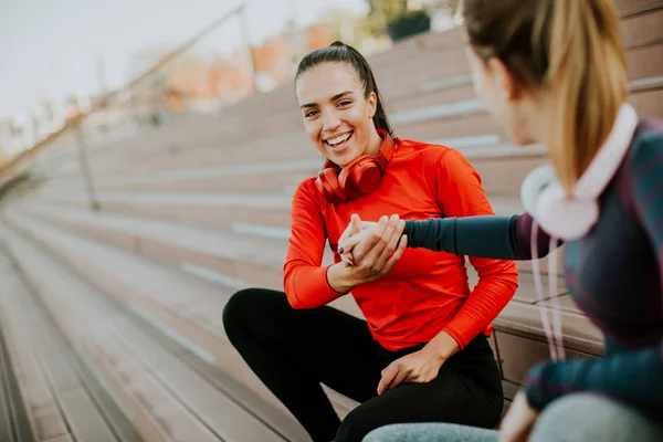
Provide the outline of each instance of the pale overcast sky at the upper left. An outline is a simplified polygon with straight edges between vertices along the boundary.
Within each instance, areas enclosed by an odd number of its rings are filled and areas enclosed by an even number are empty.
[[[128,80],[131,55],[175,48],[241,3],[254,43],[288,19],[311,24],[333,4],[366,13],[365,0],[0,0],[0,120],[21,117],[38,98],[61,101]],[[230,52],[242,44],[236,18],[196,51]],[[99,69],[103,66],[103,69]]]

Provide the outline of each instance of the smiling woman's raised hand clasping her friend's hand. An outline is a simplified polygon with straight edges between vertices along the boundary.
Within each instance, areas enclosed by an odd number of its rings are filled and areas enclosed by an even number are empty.
[[[356,224],[350,231],[358,231],[360,222],[358,215],[352,215],[352,223]],[[408,238],[402,235],[404,227],[404,221],[399,220],[398,215],[391,219],[382,217],[377,228],[371,229],[371,233],[357,245],[361,256],[354,256],[349,267],[350,280],[356,285],[379,280],[393,269],[408,245]]]

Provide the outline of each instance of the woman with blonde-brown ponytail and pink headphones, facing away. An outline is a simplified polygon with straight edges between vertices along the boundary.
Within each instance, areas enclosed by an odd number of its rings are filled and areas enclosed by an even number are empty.
[[[408,248],[536,260],[565,242],[568,288],[604,358],[566,360],[558,313],[543,323],[551,360],[530,369],[499,431],[402,424],[365,442],[663,441],[663,122],[627,103],[613,1],[465,0],[463,13],[477,95],[552,165],[524,181],[525,214],[407,221]],[[361,260],[380,229],[355,217],[343,260]]]

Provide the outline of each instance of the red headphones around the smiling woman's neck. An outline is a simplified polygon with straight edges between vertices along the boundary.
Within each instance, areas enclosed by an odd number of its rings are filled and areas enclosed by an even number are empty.
[[[338,203],[348,199],[354,200],[378,188],[387,165],[393,157],[397,143],[387,130],[377,130],[382,138],[377,155],[362,155],[343,169],[329,160],[325,162],[315,185],[327,201]]]

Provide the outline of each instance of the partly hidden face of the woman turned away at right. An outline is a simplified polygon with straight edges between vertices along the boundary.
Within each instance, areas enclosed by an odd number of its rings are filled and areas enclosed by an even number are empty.
[[[485,63],[472,48],[465,54],[472,71],[474,92],[484,102],[507,136],[518,145],[536,143],[532,133],[530,97],[497,59]]]

